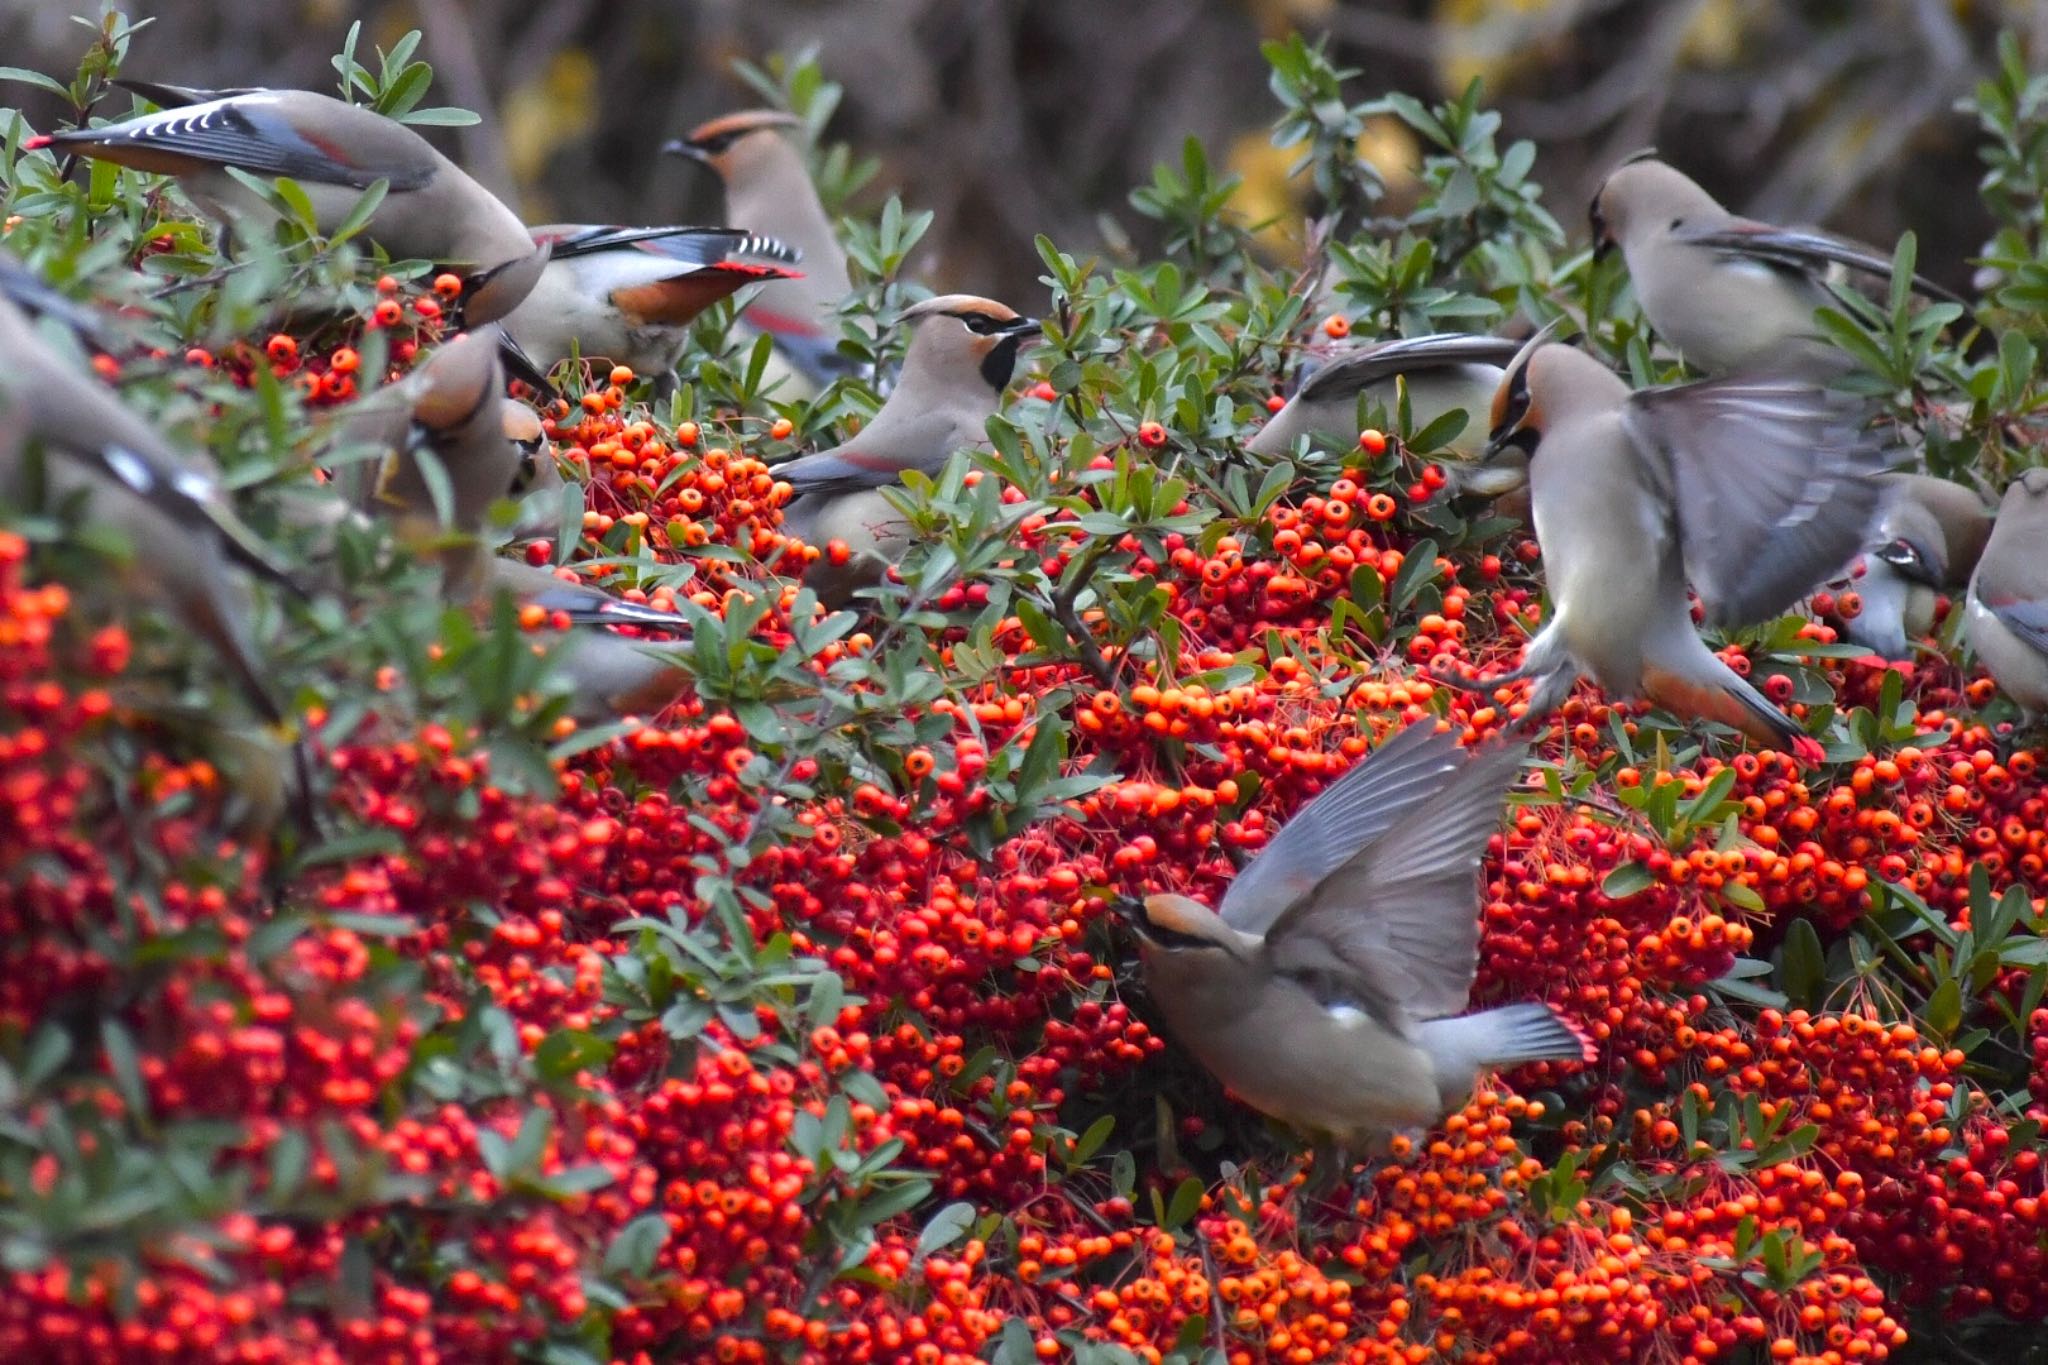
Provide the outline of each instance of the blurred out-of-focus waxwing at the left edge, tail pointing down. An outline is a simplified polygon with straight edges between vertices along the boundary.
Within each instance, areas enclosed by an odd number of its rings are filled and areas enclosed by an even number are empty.
[[[172,448],[8,297],[0,297],[0,491],[10,501],[76,501],[88,524],[111,528],[129,548],[129,585],[205,639],[264,720],[283,720],[250,632],[250,577],[301,591],[297,579],[236,516],[207,456]]]

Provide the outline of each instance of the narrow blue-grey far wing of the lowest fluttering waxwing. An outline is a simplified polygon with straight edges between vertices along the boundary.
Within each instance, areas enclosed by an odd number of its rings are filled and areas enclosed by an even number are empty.
[[[1270,933],[1323,878],[1430,800],[1458,763],[1456,735],[1430,722],[1403,729],[1282,825],[1217,913],[1241,933]]]

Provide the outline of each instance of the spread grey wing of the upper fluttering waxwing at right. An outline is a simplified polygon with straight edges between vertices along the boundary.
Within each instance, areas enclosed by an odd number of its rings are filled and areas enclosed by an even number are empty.
[[[1790,610],[1870,544],[1890,452],[1862,420],[1860,403],[1788,379],[1642,389],[1622,405],[1716,624]]]

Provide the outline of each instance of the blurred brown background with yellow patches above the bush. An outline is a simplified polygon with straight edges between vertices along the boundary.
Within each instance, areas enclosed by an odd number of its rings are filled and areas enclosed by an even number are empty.
[[[1126,194],[1200,137],[1243,178],[1241,209],[1298,239],[1317,211],[1266,127],[1260,37],[1327,35],[1354,98],[1456,94],[1483,78],[1505,137],[1542,147],[1552,213],[1583,233],[1602,172],[1657,145],[1731,207],[1872,241],[1921,233],[1950,284],[1987,225],[1972,125],[1956,100],[1991,68],[2001,25],[2048,55],[2048,0],[131,0],[154,16],[131,72],[182,84],[332,88],[350,20],[371,43],[410,27],[436,100],[483,123],[436,131],[530,221],[707,221],[717,192],[664,139],[758,104],[735,59],[815,49],[846,84],[829,129],[877,156],[862,203],[891,190],[938,219],[918,266],[938,287],[1028,301],[1032,235],[1067,250],[1149,246]],[[66,70],[96,4],[0,0],[16,65]],[[10,90],[31,119],[43,96]],[[109,113],[117,113],[109,108]],[[1399,188],[1413,143],[1368,131]],[[1276,264],[1286,264],[1284,239]]]

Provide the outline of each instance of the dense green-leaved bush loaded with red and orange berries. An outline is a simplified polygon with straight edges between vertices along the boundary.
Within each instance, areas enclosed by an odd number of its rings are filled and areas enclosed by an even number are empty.
[[[80,115],[129,39],[63,86]],[[1165,260],[1040,244],[1047,342],[989,450],[911,481],[926,542],[860,614],[770,565],[774,460],[868,389],[756,393],[723,309],[662,401],[569,377],[575,497],[522,553],[676,612],[692,681],[645,724],[578,729],[539,622],[479,626],[346,538],[338,591],[262,622],[317,759],[305,839],[266,800],[281,741],[123,610],[90,508],[10,520],[0,1357],[2019,1359],[2048,792],[1948,659],[1884,669],[1825,620],[1729,641],[1817,769],[1581,690],[1487,860],[1475,999],[1554,1001],[1599,1060],[1384,1164],[1309,1187],[1147,1025],[1110,898],[1212,898],[1407,720],[1497,729],[1513,692],[1427,671],[1511,659],[1540,614],[1528,532],[1440,495],[1450,432],[1247,454],[1278,377],[1346,332],[1561,311],[1673,372],[1477,90],[1354,106],[1317,51],[1268,55],[1278,137],[1348,215],[1341,315],[1190,143],[1133,194]],[[383,108],[426,92],[410,51],[340,68]],[[1989,483],[2042,405],[2044,98],[2011,51],[1976,100],[1980,325],[1903,291],[1831,319],[1935,467]],[[1399,217],[1352,153],[1380,111],[1432,149]],[[313,237],[289,184],[274,239],[221,256],[162,180],[25,133],[6,248],[121,307],[102,372],[293,546],[326,411],[438,340],[436,280]],[[899,342],[922,227],[848,223],[848,348]]]

